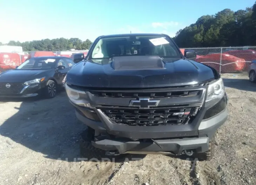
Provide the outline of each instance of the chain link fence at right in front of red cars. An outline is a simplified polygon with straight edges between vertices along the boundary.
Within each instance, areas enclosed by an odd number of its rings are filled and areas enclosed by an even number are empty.
[[[215,68],[219,73],[242,73],[249,70],[252,60],[256,60],[256,46],[243,47],[197,47],[183,48],[195,50],[196,61]]]

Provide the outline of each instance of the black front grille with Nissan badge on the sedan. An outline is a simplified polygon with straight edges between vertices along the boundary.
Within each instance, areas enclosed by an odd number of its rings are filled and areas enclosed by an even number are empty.
[[[6,87],[7,83],[0,83],[0,96],[17,96],[23,89],[22,83],[9,83],[11,86]]]

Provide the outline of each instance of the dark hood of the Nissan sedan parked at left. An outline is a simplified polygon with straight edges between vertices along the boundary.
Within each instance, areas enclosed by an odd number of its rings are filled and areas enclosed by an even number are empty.
[[[0,83],[24,83],[29,80],[44,77],[47,70],[10,70],[0,74]]]

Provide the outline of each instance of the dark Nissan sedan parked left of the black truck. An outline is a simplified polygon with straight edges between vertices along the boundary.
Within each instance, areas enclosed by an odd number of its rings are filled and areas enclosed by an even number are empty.
[[[34,57],[0,74],[0,97],[56,96],[74,65],[67,57]]]

